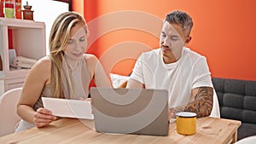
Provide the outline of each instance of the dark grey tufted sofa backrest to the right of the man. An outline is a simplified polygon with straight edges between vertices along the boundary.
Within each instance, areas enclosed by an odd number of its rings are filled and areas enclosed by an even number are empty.
[[[256,81],[212,78],[220,117],[256,124]]]

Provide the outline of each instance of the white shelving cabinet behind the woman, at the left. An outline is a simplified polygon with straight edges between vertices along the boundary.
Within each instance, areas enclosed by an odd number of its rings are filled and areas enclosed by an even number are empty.
[[[0,18],[0,55],[3,71],[0,71],[0,95],[22,86],[29,69],[14,69],[9,66],[8,30],[12,32],[13,47],[17,56],[38,60],[46,55],[44,22]]]

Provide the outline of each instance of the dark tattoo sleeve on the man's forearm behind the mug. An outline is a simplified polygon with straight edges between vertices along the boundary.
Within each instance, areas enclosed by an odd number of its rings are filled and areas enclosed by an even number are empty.
[[[200,87],[195,95],[195,101],[191,101],[184,111],[195,112],[197,117],[207,117],[212,112],[213,89],[211,87]]]

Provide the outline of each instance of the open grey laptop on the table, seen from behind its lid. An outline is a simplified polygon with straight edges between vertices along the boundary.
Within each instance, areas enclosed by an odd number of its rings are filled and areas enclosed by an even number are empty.
[[[168,91],[90,89],[95,129],[102,133],[168,135]]]

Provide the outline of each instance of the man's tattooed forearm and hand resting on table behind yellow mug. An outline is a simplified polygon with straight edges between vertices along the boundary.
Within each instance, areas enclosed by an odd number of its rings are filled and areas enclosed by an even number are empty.
[[[211,87],[199,87],[192,89],[195,101],[189,102],[183,107],[173,107],[169,111],[169,116],[175,118],[177,112],[195,112],[197,117],[207,117],[212,112],[213,89]]]

